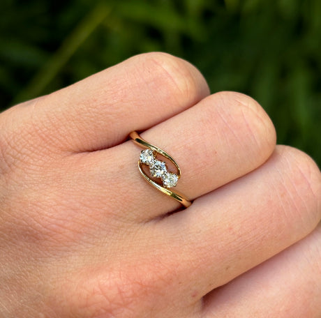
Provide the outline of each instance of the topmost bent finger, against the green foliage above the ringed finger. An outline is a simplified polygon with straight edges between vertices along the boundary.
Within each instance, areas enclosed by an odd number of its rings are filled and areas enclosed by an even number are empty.
[[[164,53],[134,56],[9,113],[8,135],[26,135],[66,151],[118,144],[131,130],[145,130],[209,94],[190,63]],[[30,104],[30,103],[29,103]],[[18,133],[17,133],[18,132]]]

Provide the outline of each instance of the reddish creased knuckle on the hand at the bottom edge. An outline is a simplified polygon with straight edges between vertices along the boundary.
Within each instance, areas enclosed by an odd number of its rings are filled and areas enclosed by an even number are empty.
[[[96,268],[91,269],[92,275],[76,275],[72,279],[77,282],[75,288],[63,288],[68,290],[68,295],[63,295],[70,300],[68,308],[73,308],[75,317],[154,317],[152,313],[159,305],[156,299],[163,297],[167,301],[164,289],[169,280],[157,273],[151,260],[149,263],[140,264],[142,268],[138,269],[123,262],[121,268]]]

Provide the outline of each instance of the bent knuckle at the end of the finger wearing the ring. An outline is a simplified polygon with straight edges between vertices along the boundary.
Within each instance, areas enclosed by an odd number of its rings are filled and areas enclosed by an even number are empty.
[[[251,153],[248,163],[262,164],[271,156],[276,145],[276,131],[271,119],[253,98],[242,93],[221,91],[204,100],[204,121],[229,136],[228,141],[243,153]],[[204,109],[206,107],[206,109]]]

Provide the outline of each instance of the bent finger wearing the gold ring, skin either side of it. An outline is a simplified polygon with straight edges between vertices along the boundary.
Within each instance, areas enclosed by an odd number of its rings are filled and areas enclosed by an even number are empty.
[[[182,175],[174,190],[190,199],[262,165],[275,146],[274,126],[264,110],[252,98],[232,92],[209,96],[142,137],[177,160]],[[89,196],[101,202],[100,211],[108,204],[107,192],[118,215],[144,222],[179,207],[142,179],[137,169],[141,150],[128,141],[86,156],[77,184],[83,184],[81,192],[86,193],[92,180],[94,192]]]

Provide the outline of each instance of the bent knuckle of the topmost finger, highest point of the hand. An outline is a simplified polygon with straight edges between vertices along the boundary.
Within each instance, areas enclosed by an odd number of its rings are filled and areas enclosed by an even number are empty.
[[[184,59],[163,52],[151,52],[134,56],[137,66],[152,74],[156,88],[162,87],[168,96],[181,100],[197,101],[209,93],[202,74]]]

